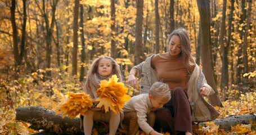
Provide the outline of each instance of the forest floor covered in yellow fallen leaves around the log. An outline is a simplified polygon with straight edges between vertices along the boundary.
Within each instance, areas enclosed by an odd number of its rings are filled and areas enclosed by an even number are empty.
[[[16,107],[41,106],[55,111],[59,104],[60,96],[66,92],[78,92],[81,84],[62,74],[61,79],[42,81],[40,74],[32,74],[11,80],[9,82],[0,81],[0,134],[34,134],[35,131],[29,126],[30,123],[16,120]],[[79,82],[79,81],[78,81]],[[132,96],[133,92],[129,92]],[[218,119],[236,115],[256,115],[256,92],[242,93],[238,90],[230,90],[228,100],[222,102],[224,107],[215,107],[221,115]],[[237,124],[231,127],[230,131],[224,131],[214,123],[205,125],[194,125],[194,134],[256,134],[256,122],[251,120],[250,124]],[[93,134],[98,134],[94,129]],[[122,134],[118,132],[118,134]],[[145,134],[142,131],[138,134]],[[168,133],[164,133],[168,134]]]

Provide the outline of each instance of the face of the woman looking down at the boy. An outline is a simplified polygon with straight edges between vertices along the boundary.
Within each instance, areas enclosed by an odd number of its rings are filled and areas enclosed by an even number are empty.
[[[181,39],[177,35],[173,35],[170,38],[169,53],[171,56],[177,56],[181,53]]]

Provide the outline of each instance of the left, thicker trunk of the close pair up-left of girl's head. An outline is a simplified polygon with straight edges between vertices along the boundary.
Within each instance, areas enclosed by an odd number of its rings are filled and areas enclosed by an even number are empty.
[[[75,0],[73,21],[72,75],[77,75],[79,0]]]

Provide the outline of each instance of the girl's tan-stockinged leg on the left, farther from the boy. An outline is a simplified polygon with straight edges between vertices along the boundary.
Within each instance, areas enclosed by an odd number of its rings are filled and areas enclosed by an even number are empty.
[[[87,110],[83,118],[84,134],[92,134],[93,127],[93,111]]]

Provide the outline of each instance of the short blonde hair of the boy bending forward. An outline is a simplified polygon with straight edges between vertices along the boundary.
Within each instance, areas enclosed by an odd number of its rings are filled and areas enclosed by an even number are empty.
[[[155,82],[150,88],[149,94],[152,98],[168,102],[170,100],[170,89],[168,84],[163,82]]]

